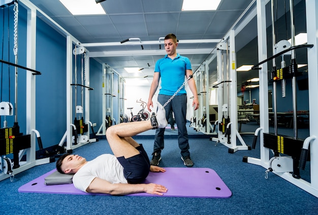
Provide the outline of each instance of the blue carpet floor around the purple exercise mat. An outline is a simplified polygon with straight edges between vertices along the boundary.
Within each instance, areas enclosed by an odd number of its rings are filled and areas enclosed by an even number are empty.
[[[215,142],[206,137],[203,135],[201,138],[193,138],[189,135],[194,167],[214,169],[232,191],[233,195],[229,199],[18,192],[18,188],[23,184],[55,168],[55,163],[49,163],[15,175],[13,182],[9,179],[0,182],[1,214],[318,214],[318,198],[273,173],[269,173],[268,179],[265,179],[266,169],[242,162],[243,156],[260,157],[259,140],[255,150],[230,154],[227,147],[221,144],[215,146]],[[246,144],[251,146],[252,135],[242,137]],[[151,157],[153,136],[137,137],[137,141],[143,144],[148,156]],[[99,142],[75,149],[73,153],[90,160],[111,151],[107,140],[101,139]],[[180,157],[177,137],[166,138],[160,165],[184,167]],[[308,169],[307,165],[306,170],[301,171],[301,175],[308,175]],[[191,175],[184,177],[192,180]]]

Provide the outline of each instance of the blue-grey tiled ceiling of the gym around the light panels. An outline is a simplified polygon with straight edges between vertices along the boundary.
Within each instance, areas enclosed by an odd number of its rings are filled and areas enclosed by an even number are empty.
[[[216,42],[224,37],[253,1],[221,0],[216,11],[183,12],[182,0],[107,0],[100,3],[106,15],[85,16],[73,16],[59,0],[29,0],[29,2],[71,33],[86,47],[94,59],[108,64],[125,78],[134,77],[136,74],[126,73],[123,67],[139,66],[144,69],[138,77],[143,78],[153,75],[156,60],[166,54],[164,46],[162,45],[160,49],[159,44],[160,38],[168,33],[177,35],[179,40],[177,50],[190,59],[195,71],[209,57]],[[289,1],[286,2],[289,11]],[[299,2],[305,0],[295,0],[295,5]],[[279,0],[278,5],[283,7],[283,1]],[[302,5],[304,7],[304,3]],[[255,6],[256,3],[252,8]],[[267,11],[269,8],[267,7]],[[284,14],[283,10],[284,8],[280,9],[282,12],[278,13],[279,16]],[[40,13],[38,16],[47,20]],[[256,35],[256,18],[253,18],[236,37],[237,66],[240,66],[239,63],[245,63],[244,61],[251,64],[258,63]],[[121,41],[132,38],[138,40],[120,44]],[[212,43],[203,43],[209,41]],[[103,43],[103,46],[88,45],[92,43]],[[239,50],[243,53],[243,47],[248,47],[247,52],[245,49],[244,54],[239,54]],[[210,67],[216,68],[216,66]],[[210,79],[215,76],[215,68],[210,71]],[[255,71],[244,75],[238,73],[238,84],[255,76],[258,76]],[[150,83],[151,78],[149,85]]]

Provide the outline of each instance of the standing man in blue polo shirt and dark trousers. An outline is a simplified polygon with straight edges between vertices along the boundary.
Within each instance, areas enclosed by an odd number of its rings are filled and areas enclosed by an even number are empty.
[[[158,94],[158,102],[164,105],[171,96],[177,92],[183,82],[192,75],[192,67],[190,60],[187,57],[177,53],[176,48],[178,41],[176,35],[170,33],[165,37],[165,50],[167,55],[159,59],[154,68],[153,80],[150,87],[147,108],[151,111],[153,108],[152,97],[156,92],[159,81],[161,79],[161,89]],[[194,96],[192,105],[194,109],[199,108],[199,98],[197,87],[194,79],[188,80],[188,86]],[[171,109],[174,112],[176,124],[178,126],[178,144],[181,150],[181,159],[185,166],[193,166],[194,163],[190,158],[188,135],[186,130],[186,102],[187,96],[184,87],[177,95],[165,106],[166,119],[169,119]],[[164,133],[165,128],[156,129],[154,146],[152,153],[151,165],[157,166],[161,160],[161,151],[164,149]]]

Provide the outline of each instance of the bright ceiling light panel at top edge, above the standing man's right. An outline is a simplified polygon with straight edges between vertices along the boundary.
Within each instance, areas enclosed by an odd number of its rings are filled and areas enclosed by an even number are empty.
[[[183,0],[182,11],[214,11],[221,0]]]

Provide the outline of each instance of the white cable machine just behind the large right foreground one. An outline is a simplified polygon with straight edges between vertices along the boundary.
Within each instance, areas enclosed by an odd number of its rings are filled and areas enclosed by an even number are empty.
[[[229,34],[217,45],[217,88],[218,119],[214,123],[218,127],[217,137],[210,140],[221,143],[229,148],[229,153],[238,150],[250,150],[237,130],[237,88],[236,88],[236,58],[235,58],[235,31]],[[239,139],[241,146],[236,145]]]

